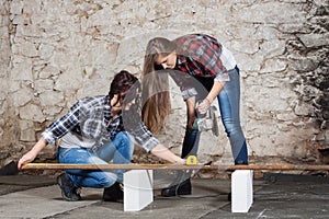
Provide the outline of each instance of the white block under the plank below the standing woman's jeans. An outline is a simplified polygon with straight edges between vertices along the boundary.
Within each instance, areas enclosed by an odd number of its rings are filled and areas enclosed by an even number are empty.
[[[231,211],[248,212],[253,201],[251,170],[236,170],[231,174]]]

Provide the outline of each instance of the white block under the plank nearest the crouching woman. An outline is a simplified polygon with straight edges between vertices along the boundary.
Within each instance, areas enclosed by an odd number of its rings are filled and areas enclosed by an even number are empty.
[[[139,211],[154,201],[152,170],[131,170],[124,173],[124,211]]]

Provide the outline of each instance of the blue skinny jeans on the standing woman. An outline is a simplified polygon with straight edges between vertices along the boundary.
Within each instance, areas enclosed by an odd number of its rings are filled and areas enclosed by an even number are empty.
[[[240,125],[240,73],[238,67],[229,71],[229,81],[217,96],[222,123],[231,146],[236,164],[248,164],[246,138]],[[197,116],[197,115],[196,115]],[[189,120],[189,118],[188,118]],[[197,153],[200,131],[186,126],[182,158]]]

